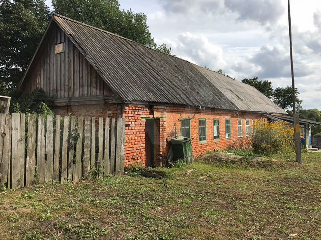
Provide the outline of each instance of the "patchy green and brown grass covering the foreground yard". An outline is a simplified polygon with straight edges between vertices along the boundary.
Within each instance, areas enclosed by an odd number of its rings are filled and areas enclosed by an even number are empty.
[[[269,170],[204,163],[0,194],[0,239],[321,239],[321,154]],[[193,171],[190,171],[192,170]]]

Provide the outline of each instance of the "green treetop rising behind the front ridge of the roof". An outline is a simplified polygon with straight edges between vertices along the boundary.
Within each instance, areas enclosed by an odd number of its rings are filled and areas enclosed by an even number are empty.
[[[166,44],[157,47],[144,13],[119,9],[118,0],[52,0],[55,13],[129,38],[170,54]]]

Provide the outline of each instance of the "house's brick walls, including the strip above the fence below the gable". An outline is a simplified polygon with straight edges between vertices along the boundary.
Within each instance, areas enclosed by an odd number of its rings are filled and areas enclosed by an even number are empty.
[[[154,163],[161,165],[166,159],[169,150],[167,140],[181,134],[181,120],[190,120],[190,131],[192,140],[193,157],[206,154],[215,149],[240,148],[246,146],[245,120],[250,119],[252,128],[253,119],[262,117],[259,113],[233,112],[224,110],[206,109],[200,110],[189,107],[176,106],[153,106],[130,104],[84,104],[66,105],[53,108],[56,115],[67,115],[71,113],[76,116],[117,118],[122,115],[126,119],[125,130],[125,166],[131,164],[146,165],[146,119],[154,119]],[[213,120],[220,121],[220,139],[214,140]],[[231,138],[225,137],[225,119],[231,119]],[[206,119],[205,142],[199,142],[199,119]],[[238,119],[242,119],[243,137],[238,137]]]

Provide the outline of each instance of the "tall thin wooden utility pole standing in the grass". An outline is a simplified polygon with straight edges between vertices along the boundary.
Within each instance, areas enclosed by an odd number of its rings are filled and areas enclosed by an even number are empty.
[[[294,144],[295,144],[295,158],[296,162],[302,163],[301,157],[301,138],[300,138],[300,121],[299,114],[296,113],[295,107],[295,82],[293,69],[293,52],[292,52],[292,24],[291,24],[291,9],[290,0],[288,0],[289,10],[289,36],[290,36],[290,57],[291,57],[291,73],[292,73],[292,95],[293,95],[293,123],[294,123]]]

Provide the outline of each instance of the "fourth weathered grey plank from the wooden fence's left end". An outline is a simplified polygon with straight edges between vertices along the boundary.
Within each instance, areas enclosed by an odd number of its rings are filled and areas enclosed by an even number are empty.
[[[45,182],[45,119],[43,115],[38,116],[37,176],[39,183]]]

